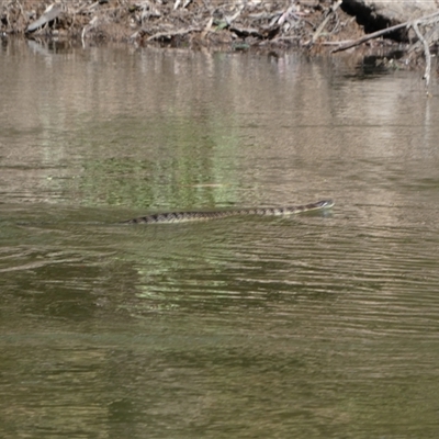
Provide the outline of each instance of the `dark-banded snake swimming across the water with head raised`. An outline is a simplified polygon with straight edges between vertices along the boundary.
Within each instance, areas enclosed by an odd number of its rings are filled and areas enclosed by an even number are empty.
[[[238,215],[261,215],[261,216],[286,216],[297,213],[320,211],[334,206],[333,200],[322,200],[316,203],[288,206],[288,207],[257,207],[257,209],[237,209],[232,211],[213,212],[166,212],[154,215],[140,216],[133,219],[123,221],[120,224],[165,224],[165,223],[185,223],[190,221],[205,221],[225,218]]]

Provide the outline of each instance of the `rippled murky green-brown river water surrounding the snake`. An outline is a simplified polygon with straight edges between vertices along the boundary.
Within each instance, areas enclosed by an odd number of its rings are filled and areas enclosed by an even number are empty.
[[[439,93],[349,63],[3,44],[2,436],[437,437]]]

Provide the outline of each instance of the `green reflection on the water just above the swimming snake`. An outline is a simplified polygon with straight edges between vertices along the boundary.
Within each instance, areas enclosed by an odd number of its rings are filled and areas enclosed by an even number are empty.
[[[82,203],[139,209],[234,203],[239,184],[238,136],[222,119],[125,119],[87,126],[89,148],[79,157]],[[100,133],[108,139],[105,127],[114,136],[103,147]]]

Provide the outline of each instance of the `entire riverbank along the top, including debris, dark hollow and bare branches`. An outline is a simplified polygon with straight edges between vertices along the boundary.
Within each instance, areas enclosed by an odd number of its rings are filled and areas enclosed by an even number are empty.
[[[398,68],[425,65],[428,85],[438,10],[410,2],[393,9],[381,4],[379,10],[367,0],[10,0],[0,7],[0,34],[82,45],[126,42],[232,50],[296,47],[320,53],[365,46]]]

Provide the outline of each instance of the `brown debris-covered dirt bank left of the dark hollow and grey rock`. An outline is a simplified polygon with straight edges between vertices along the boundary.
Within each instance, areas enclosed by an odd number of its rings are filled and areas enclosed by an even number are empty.
[[[9,0],[0,31],[30,38],[135,44],[311,46],[357,38],[363,31],[341,2],[207,0]]]

